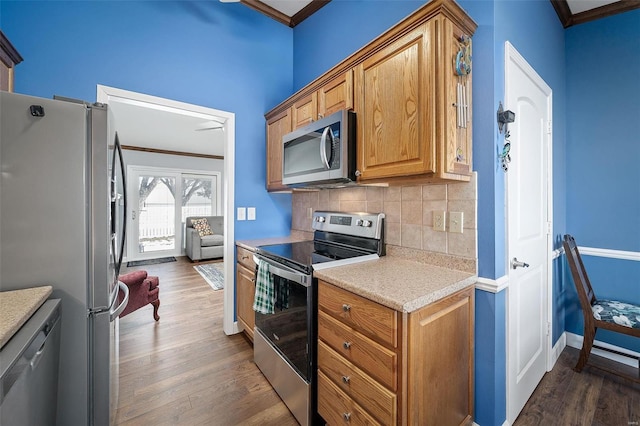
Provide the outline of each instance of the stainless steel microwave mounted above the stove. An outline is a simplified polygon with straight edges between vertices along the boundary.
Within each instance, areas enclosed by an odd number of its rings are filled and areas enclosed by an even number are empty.
[[[341,110],[282,138],[282,183],[341,186],[356,180],[356,114]]]

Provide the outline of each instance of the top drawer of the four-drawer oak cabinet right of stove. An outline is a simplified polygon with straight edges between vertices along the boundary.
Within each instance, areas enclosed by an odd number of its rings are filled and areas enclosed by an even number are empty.
[[[379,303],[320,282],[318,308],[374,340],[398,347],[398,313]]]

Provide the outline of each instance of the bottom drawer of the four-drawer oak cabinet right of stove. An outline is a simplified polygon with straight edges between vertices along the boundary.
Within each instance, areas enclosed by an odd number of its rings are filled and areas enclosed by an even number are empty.
[[[379,425],[373,417],[318,371],[318,413],[328,425]]]

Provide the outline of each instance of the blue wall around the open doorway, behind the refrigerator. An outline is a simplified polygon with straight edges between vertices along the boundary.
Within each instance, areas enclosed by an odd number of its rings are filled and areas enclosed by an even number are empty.
[[[24,57],[16,92],[94,101],[103,84],[234,112],[236,204],[258,213],[236,238],[289,233],[290,195],[264,189],[264,113],[293,90],[290,28],[217,1],[2,1],[0,26]]]

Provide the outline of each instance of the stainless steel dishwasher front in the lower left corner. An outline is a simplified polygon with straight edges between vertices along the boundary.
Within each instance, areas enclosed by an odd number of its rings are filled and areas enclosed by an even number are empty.
[[[0,350],[0,425],[54,425],[60,299],[50,299]]]

